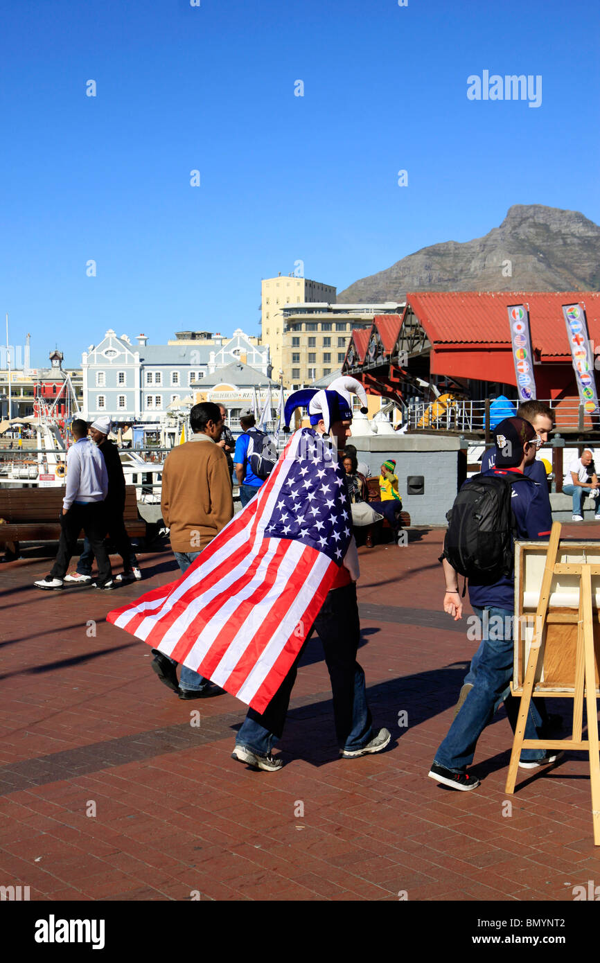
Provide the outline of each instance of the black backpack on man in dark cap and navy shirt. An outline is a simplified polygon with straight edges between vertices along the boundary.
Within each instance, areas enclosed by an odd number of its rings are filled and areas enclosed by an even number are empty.
[[[444,552],[452,567],[479,583],[497,582],[514,564],[516,522],[510,505],[512,485],[528,481],[506,475],[474,475],[447,513]]]

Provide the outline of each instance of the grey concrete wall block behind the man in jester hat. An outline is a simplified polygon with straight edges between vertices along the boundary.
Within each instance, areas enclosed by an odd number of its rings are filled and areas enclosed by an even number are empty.
[[[403,508],[410,512],[412,525],[447,524],[446,512],[457,495],[461,468],[466,468],[466,453],[461,452],[457,437],[382,434],[356,435],[350,440],[371,475],[379,474],[382,461],[394,459]],[[408,475],[425,476],[425,494],[406,494]]]

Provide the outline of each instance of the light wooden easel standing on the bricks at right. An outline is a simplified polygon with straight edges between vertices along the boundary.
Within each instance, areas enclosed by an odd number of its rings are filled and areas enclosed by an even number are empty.
[[[598,746],[596,664],[591,594],[591,576],[600,575],[600,565],[591,565],[585,562],[557,563],[560,540],[561,524],[555,522],[550,534],[541,591],[535,612],[535,636],[531,643],[527,669],[523,679],[521,705],[514,733],[514,741],[512,742],[506,792],[508,794],[514,792],[521,749],[587,749],[589,756],[589,779],[591,783],[591,813],[594,846],[600,846],[600,750]],[[544,630],[548,621],[550,587],[554,575],[578,575],[580,577],[579,612],[577,612],[577,614],[573,613],[572,615],[567,612],[561,614],[561,621],[577,622],[575,686],[572,693],[573,731],[571,739],[547,741],[525,739],[525,724],[534,692],[535,672],[539,661]],[[582,740],[584,693],[586,694],[587,706],[587,740]],[[539,694],[542,695],[544,693],[540,691]],[[563,693],[564,697],[567,698],[570,697],[570,694],[571,693]]]

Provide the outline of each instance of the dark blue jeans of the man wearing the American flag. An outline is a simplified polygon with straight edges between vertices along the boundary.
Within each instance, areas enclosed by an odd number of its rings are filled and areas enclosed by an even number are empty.
[[[360,622],[355,585],[333,588],[328,592],[304,645],[313,631],[323,642],[338,744],[342,749],[360,749],[371,742],[374,732],[367,703],[365,674],[356,662]],[[236,745],[246,745],[252,751],[266,756],[271,752],[274,742],[281,738],[302,649],[265,712],[261,714],[248,709],[248,715],[236,737]]]

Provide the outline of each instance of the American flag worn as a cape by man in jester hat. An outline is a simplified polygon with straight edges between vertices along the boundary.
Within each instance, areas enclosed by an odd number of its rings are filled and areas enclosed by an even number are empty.
[[[263,712],[352,537],[337,453],[300,429],[247,507],[176,582],[107,620]]]

